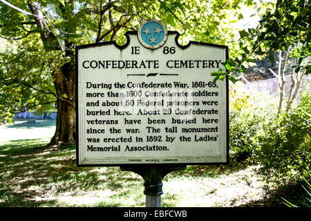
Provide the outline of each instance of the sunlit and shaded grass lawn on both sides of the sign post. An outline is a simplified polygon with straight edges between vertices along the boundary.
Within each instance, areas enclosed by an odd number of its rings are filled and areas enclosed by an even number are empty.
[[[145,205],[142,177],[118,167],[77,167],[75,146],[46,147],[54,130],[53,120],[0,126],[0,206]],[[256,169],[189,166],[169,173],[162,206],[263,206]]]

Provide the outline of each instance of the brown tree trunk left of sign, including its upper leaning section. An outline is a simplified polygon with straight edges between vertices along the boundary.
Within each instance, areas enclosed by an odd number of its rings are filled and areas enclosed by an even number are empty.
[[[28,1],[28,6],[34,15],[37,28],[40,30],[41,40],[46,50],[61,50],[56,35],[48,28],[43,12],[38,3]],[[68,41],[67,41],[68,43]],[[72,44],[72,43],[71,43]],[[66,44],[65,44],[66,45]],[[66,48],[68,45],[66,45]],[[67,56],[74,57],[73,51],[66,50]],[[74,62],[71,62],[74,63]],[[75,143],[75,66],[70,61],[59,66],[55,73],[54,85],[57,97],[57,119],[55,135],[50,146],[63,146]]]

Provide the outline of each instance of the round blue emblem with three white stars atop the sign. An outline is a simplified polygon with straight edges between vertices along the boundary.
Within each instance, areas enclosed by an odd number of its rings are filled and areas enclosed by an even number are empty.
[[[167,40],[167,28],[161,21],[149,19],[140,26],[138,40],[146,48],[160,48]]]

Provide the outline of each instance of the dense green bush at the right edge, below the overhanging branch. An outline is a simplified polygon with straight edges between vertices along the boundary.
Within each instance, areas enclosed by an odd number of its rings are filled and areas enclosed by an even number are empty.
[[[265,127],[258,150],[259,173],[273,185],[308,178],[311,165],[311,93],[306,92],[296,108],[283,113],[274,125]]]

